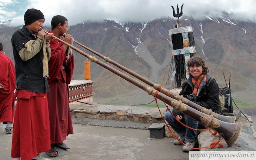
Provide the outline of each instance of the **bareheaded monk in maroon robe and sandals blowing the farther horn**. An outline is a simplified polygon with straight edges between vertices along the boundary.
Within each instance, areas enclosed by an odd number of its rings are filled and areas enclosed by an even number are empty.
[[[51,20],[51,31],[60,37],[68,31],[68,21],[63,16],[54,16]],[[71,44],[72,36],[66,34],[63,40]],[[48,95],[51,149],[47,152],[50,157],[59,154],[57,147],[69,149],[63,142],[68,134],[73,134],[73,126],[69,109],[67,85],[70,84],[74,70],[74,56],[69,47],[57,39],[50,40],[51,59],[49,61]]]

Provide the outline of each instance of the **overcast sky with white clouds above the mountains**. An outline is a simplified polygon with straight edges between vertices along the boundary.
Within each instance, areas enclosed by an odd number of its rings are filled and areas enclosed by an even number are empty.
[[[35,8],[43,12],[46,25],[55,15],[65,16],[70,25],[100,19],[146,22],[162,16],[173,17],[171,6],[176,10],[176,2],[179,8],[184,3],[183,14],[195,19],[218,16],[222,10],[240,18],[256,17],[253,0],[0,0],[0,21],[15,19],[15,23],[24,24],[25,11]]]

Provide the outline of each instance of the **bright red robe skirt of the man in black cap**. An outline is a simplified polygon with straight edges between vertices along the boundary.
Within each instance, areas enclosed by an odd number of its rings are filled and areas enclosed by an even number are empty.
[[[51,148],[47,93],[17,92],[11,157],[31,160]]]

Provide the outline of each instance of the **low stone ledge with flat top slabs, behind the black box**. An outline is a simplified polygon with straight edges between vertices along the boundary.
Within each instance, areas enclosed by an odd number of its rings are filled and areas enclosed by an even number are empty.
[[[72,118],[132,121],[139,123],[163,122],[159,110],[154,107],[110,106],[104,104],[70,104]],[[165,114],[165,109],[160,109]]]

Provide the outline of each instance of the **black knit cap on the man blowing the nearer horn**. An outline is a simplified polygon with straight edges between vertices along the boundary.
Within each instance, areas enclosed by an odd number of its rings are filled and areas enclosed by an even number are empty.
[[[44,15],[40,10],[28,9],[24,14],[25,26],[39,19],[44,19]]]

